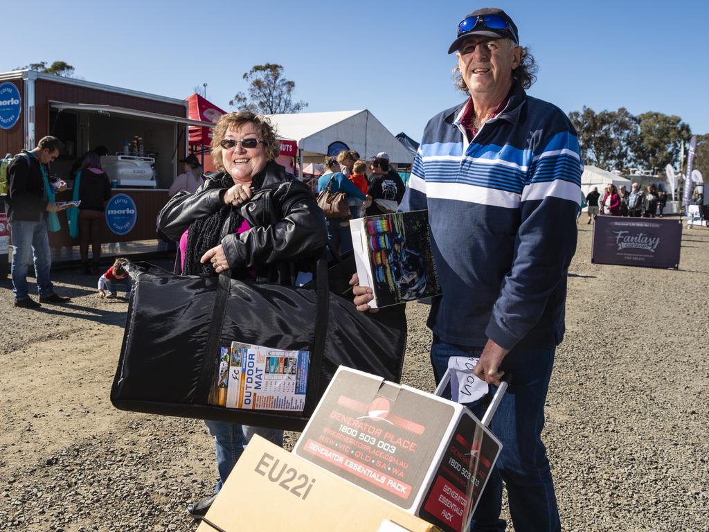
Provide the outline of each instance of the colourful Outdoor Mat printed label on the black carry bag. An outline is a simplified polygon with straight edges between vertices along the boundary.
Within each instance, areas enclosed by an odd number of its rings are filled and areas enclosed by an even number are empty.
[[[226,354],[225,354],[226,352]],[[288,351],[232,342],[222,348],[216,401],[231,409],[303,411],[309,351]]]

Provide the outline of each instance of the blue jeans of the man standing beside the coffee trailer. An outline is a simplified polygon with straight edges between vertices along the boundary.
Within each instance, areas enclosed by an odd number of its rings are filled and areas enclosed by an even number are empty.
[[[49,279],[52,266],[52,252],[49,248],[47,222],[16,220],[10,222],[12,230],[12,291],[15,301],[30,297],[27,270],[34,255],[37,292],[40,297],[54,294]]]

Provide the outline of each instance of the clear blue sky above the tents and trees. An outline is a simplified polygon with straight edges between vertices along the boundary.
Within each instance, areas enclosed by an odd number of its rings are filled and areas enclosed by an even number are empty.
[[[18,5],[18,4],[16,4]],[[25,1],[3,26],[0,72],[64,60],[88,81],[184,98],[208,84],[223,109],[242,74],[278,62],[307,111],[369,109],[420,138],[462,101],[447,48],[469,1]],[[494,5],[494,4],[493,4]],[[709,2],[506,1],[540,66],[532,96],[564,111],[625,106],[676,114],[709,133]],[[27,24],[20,23],[28,22]]]

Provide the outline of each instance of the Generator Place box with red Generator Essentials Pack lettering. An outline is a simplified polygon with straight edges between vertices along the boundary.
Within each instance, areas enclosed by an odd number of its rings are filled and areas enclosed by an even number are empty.
[[[501,448],[465,406],[340,367],[293,452],[459,532]]]

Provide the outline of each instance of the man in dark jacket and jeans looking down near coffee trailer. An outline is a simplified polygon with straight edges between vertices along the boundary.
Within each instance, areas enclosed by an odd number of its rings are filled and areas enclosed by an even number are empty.
[[[34,258],[37,291],[41,303],[66,303],[68,297],[56,294],[50,281],[52,253],[47,233],[49,213],[64,207],[49,201],[47,165],[59,156],[60,140],[42,138],[33,150],[22,150],[8,167],[8,219],[12,234],[12,284],[15,306],[36,309],[40,305],[28,293],[27,270]],[[65,190],[60,183],[57,192]]]

